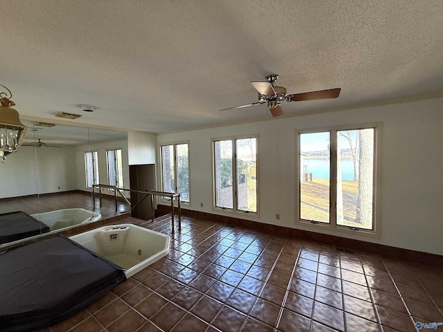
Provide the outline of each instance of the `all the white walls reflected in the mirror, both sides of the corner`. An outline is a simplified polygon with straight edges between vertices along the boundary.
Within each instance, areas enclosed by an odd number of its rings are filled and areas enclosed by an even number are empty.
[[[91,145],[91,151],[98,151],[101,183],[107,183],[106,149],[122,149],[123,183],[129,187],[127,141]],[[69,190],[89,191],[85,183],[84,151],[89,151],[89,145],[35,150],[20,147],[17,153],[6,157],[6,163],[0,163],[0,199]]]

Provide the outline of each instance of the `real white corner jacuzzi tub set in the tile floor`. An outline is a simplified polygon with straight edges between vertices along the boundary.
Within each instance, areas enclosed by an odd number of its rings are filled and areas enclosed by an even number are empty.
[[[131,223],[109,225],[69,239],[126,269],[126,277],[168,255],[170,237]]]

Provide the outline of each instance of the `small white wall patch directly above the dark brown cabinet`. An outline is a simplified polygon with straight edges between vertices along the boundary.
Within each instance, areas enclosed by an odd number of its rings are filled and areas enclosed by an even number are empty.
[[[156,163],[156,135],[152,133],[127,133],[129,165]]]

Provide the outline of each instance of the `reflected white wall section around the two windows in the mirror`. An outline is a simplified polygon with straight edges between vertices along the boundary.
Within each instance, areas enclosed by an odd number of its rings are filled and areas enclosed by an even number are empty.
[[[77,189],[91,191],[86,187],[86,174],[84,169],[84,152],[97,151],[98,152],[98,177],[101,184],[107,185],[107,160],[106,150],[122,149],[122,164],[123,164],[123,187],[129,188],[129,164],[128,164],[128,144],[127,140],[117,140],[114,142],[92,143],[88,145],[78,145],[75,147],[75,163],[77,165]],[[103,194],[114,195],[114,192],[102,190]],[[127,194],[126,196],[129,196]]]

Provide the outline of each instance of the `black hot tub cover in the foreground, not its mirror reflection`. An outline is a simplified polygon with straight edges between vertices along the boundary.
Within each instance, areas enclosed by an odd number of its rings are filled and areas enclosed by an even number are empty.
[[[0,254],[0,330],[32,331],[89,306],[125,269],[59,235]]]

